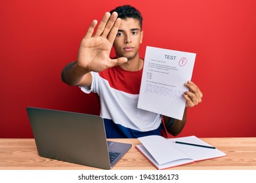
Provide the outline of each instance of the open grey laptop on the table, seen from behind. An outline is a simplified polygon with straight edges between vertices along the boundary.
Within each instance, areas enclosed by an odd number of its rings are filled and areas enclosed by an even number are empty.
[[[131,144],[106,140],[100,116],[27,107],[39,156],[112,169]]]

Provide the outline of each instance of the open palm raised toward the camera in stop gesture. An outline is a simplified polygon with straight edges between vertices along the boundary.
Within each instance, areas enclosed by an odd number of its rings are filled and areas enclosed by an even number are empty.
[[[110,58],[110,51],[121,24],[117,12],[106,12],[95,31],[97,20],[93,20],[79,47],[77,65],[87,71],[100,72],[109,67],[120,65],[127,58]],[[93,35],[95,31],[95,34]]]

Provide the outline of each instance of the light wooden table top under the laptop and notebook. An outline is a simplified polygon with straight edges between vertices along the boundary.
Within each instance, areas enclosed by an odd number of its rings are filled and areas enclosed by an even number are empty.
[[[227,156],[173,167],[171,169],[256,169],[256,137],[202,138],[202,140],[212,146],[216,146],[219,150],[225,152]],[[140,144],[138,139],[110,139],[110,141],[128,142],[133,144],[129,152],[123,156],[113,169],[156,169],[137,149],[135,149],[135,145]],[[34,139],[0,139],[0,169],[80,170],[96,168],[40,157],[37,154]]]

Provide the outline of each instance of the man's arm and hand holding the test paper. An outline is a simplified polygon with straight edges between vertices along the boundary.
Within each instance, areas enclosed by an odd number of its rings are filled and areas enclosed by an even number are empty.
[[[188,107],[194,107],[202,102],[203,93],[201,90],[194,84],[194,82],[188,81],[185,86],[188,88],[188,91],[183,94],[184,99],[186,99],[186,108],[184,110],[182,120],[177,120],[170,118],[168,116],[163,116],[163,122],[165,123],[165,128],[168,133],[173,136],[179,135],[181,133],[184,125],[186,124],[186,110]]]

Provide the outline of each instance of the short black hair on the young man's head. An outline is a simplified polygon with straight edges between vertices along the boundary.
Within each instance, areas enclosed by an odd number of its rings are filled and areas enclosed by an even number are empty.
[[[137,8],[132,7],[131,5],[123,5],[121,7],[116,7],[114,10],[111,10],[110,13],[117,12],[118,18],[126,19],[126,18],[134,18],[139,21],[140,29],[142,29],[142,16],[137,10]]]

